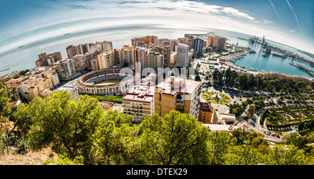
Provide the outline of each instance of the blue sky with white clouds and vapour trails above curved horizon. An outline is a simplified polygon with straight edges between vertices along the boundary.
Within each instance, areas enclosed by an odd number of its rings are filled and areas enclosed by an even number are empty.
[[[7,0],[0,15],[0,52],[73,31],[171,24],[265,36],[314,53],[313,0]]]

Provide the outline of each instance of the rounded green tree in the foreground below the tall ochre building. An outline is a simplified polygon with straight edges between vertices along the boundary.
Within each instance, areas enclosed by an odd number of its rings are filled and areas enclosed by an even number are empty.
[[[145,117],[140,124],[144,164],[207,164],[209,130],[195,117],[172,110]]]

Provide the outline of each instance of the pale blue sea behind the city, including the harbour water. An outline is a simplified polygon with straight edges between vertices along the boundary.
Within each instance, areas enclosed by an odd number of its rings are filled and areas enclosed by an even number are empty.
[[[50,54],[52,52],[61,52],[63,59],[67,58],[66,47],[68,45],[79,45],[80,43],[94,43],[96,41],[112,41],[113,48],[123,48],[124,45],[131,45],[131,38],[141,36],[158,36],[158,38],[170,38],[177,39],[184,37],[184,34],[207,34],[214,33],[218,36],[225,36],[228,38],[227,43],[237,44],[241,47],[249,47],[255,50],[256,53],[247,54],[241,59],[238,59],[234,64],[244,66],[246,69],[256,69],[257,71],[268,70],[278,71],[283,73],[291,73],[298,76],[311,77],[306,71],[302,71],[295,66],[290,65],[301,64],[308,69],[313,69],[308,64],[294,61],[292,59],[285,59],[274,55],[268,55],[263,57],[264,52],[260,45],[253,44],[249,41],[240,39],[248,39],[250,35],[241,34],[234,31],[225,31],[220,29],[210,29],[203,27],[175,27],[164,24],[127,24],[117,27],[103,27],[98,29],[89,29],[84,31],[75,31],[70,34],[61,34],[52,38],[46,38],[40,41],[27,43],[22,47],[11,48],[0,53],[0,76],[7,73],[13,73],[13,71],[19,71],[24,69],[31,69],[36,67],[36,60],[38,55],[42,52]],[[262,34],[255,34],[255,36],[262,36]],[[270,41],[266,38],[266,41],[279,48],[289,50],[297,53],[299,56],[306,59],[312,59],[299,51],[296,48]],[[0,44],[1,45],[1,44]]]

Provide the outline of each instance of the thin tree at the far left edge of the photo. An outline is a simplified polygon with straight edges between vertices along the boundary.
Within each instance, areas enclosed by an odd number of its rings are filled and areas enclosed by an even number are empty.
[[[8,154],[8,129],[7,129],[8,117],[6,117],[6,115],[10,112],[11,108],[8,104],[8,94],[6,93],[6,88],[4,88],[3,84],[0,83],[0,122],[4,122],[5,125],[7,154]]]

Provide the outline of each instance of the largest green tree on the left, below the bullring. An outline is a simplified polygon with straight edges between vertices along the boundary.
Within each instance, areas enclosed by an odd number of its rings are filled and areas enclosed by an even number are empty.
[[[23,111],[20,111],[23,110]],[[17,118],[31,119],[29,140],[33,150],[52,146],[70,157],[88,158],[91,136],[103,114],[97,99],[87,95],[71,100],[69,92],[52,92],[46,99],[33,99],[29,106],[17,109]]]

